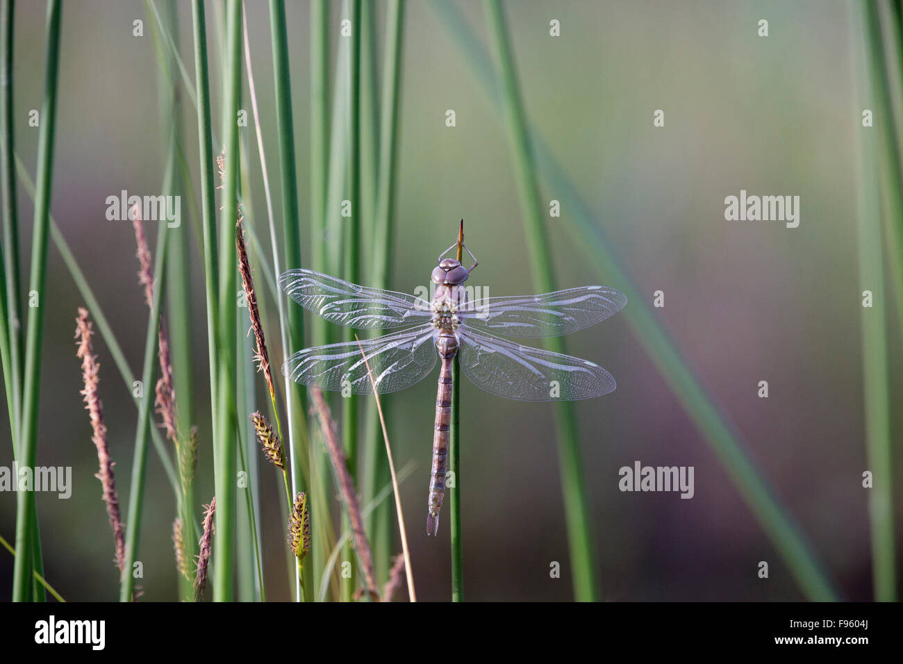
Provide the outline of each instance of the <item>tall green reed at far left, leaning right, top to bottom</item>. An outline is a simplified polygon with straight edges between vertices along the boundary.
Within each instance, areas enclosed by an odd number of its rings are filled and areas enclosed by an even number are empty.
[[[28,329],[25,341],[24,390],[19,461],[34,467],[37,455],[38,403],[41,397],[41,343],[44,322],[47,276],[47,233],[50,226],[51,189],[53,178],[53,139],[56,132],[57,79],[60,62],[61,4],[50,0],[47,5],[47,57],[45,62],[44,99],[41,108],[41,128],[38,136],[37,195],[34,203],[32,238],[32,270],[29,291],[44,302],[28,310]],[[35,550],[38,538],[37,510],[34,491],[16,494],[15,548],[28,552],[15,556],[13,569],[13,600],[21,602],[32,584],[33,572],[42,571],[40,552]]]

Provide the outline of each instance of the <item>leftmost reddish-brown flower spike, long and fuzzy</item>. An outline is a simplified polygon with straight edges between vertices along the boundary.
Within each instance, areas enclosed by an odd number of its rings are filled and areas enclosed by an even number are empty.
[[[100,470],[95,477],[103,486],[104,502],[107,503],[107,517],[110,521],[110,528],[113,528],[113,540],[116,544],[116,567],[121,573],[126,563],[126,536],[122,527],[122,519],[119,517],[119,500],[116,497],[116,480],[113,476],[113,466],[116,464],[110,461],[104,409],[98,394],[100,365],[91,347],[91,334],[94,332],[92,324],[88,321],[88,310],[79,307],[79,316],[75,322],[75,338],[79,340],[79,351],[76,353],[76,357],[81,360],[81,378],[85,383],[85,388],[80,393],[85,397],[85,408],[90,413],[91,429],[94,432],[91,440],[98,448],[98,462],[100,463]]]

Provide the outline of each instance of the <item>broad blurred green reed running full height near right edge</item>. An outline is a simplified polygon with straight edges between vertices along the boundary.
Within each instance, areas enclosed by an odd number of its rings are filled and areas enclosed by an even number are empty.
[[[886,3],[881,3],[886,5]],[[861,307],[862,327],[862,379],[865,410],[865,449],[867,468],[872,473],[872,487],[868,490],[871,532],[872,584],[876,600],[894,602],[897,598],[897,574],[893,509],[893,454],[890,431],[889,358],[887,341],[887,306],[889,298],[884,294],[884,270],[882,260],[884,229],[889,235],[889,261],[900,259],[895,250],[894,235],[903,219],[899,186],[898,157],[894,154],[895,118],[885,87],[888,78],[884,53],[881,49],[881,19],[876,5],[859,5],[860,15],[853,17],[853,24],[861,28],[852,33],[852,43],[864,44],[870,50],[860,53],[857,79],[861,99],[875,96],[879,100],[875,115],[875,130],[865,129],[858,145],[861,152],[860,214],[857,215],[859,238],[859,272],[862,291],[871,291],[872,306]],[[889,7],[884,7],[884,19],[890,20]],[[885,47],[891,44],[888,42]],[[870,55],[870,57],[869,57]],[[860,112],[856,105],[856,114]],[[886,118],[886,119],[885,119]],[[879,198],[880,197],[880,198]],[[880,205],[876,204],[879,198]],[[898,277],[898,274],[895,275]],[[899,289],[899,282],[895,283]]]

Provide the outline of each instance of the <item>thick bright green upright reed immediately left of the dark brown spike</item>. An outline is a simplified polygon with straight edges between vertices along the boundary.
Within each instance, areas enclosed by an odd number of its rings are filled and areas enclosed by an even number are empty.
[[[217,537],[225,546],[217,547],[213,593],[218,602],[233,597],[232,576],[235,565],[236,504],[236,411],[232,398],[236,386],[234,339],[237,331],[236,306],[237,254],[234,228],[237,220],[238,193],[238,108],[241,100],[241,2],[228,0],[226,5],[226,89],[223,102],[223,137],[226,163],[223,177],[222,214],[219,232],[219,368],[217,379],[217,438],[213,445],[214,485],[217,496]]]

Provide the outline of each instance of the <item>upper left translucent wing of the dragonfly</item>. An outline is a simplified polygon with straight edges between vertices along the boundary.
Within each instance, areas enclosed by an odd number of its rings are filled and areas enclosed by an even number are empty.
[[[414,295],[351,284],[313,270],[289,270],[279,285],[305,309],[358,330],[414,325],[432,318],[431,306]]]

